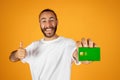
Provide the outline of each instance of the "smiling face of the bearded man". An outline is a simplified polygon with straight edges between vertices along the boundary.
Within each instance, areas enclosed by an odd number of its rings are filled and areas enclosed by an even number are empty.
[[[53,37],[57,30],[55,15],[52,12],[43,12],[40,16],[40,26],[45,37]]]

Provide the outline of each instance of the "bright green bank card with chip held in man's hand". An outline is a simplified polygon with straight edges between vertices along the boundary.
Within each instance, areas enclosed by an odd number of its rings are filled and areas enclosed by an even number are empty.
[[[79,61],[100,61],[100,48],[79,47],[78,59]]]

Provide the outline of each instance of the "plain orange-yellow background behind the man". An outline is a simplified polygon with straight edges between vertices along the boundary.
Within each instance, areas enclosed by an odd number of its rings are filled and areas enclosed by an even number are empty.
[[[9,55],[43,37],[38,15],[51,8],[59,19],[57,33],[75,41],[91,38],[101,47],[101,61],[72,65],[72,80],[120,80],[119,0],[0,0],[0,80],[31,80],[28,64]]]

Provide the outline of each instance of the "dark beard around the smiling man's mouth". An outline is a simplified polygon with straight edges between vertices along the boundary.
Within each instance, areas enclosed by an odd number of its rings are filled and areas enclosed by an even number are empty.
[[[51,29],[51,33],[46,33],[47,29]],[[53,37],[56,33],[56,30],[57,30],[57,25],[55,27],[51,26],[49,28],[41,28],[42,33],[47,38]]]

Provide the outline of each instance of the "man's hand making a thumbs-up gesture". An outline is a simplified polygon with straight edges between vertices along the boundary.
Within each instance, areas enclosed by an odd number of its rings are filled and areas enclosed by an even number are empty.
[[[15,57],[18,59],[23,59],[26,57],[26,50],[23,48],[22,42],[20,42],[19,49],[17,50]]]

